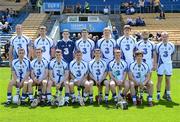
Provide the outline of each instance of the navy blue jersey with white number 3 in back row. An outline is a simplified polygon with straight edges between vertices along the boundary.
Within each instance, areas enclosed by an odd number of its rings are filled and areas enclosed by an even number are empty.
[[[56,49],[62,50],[62,55],[64,60],[68,64],[70,64],[70,62],[73,60],[75,43],[72,40],[68,40],[68,41],[60,40],[56,45]]]

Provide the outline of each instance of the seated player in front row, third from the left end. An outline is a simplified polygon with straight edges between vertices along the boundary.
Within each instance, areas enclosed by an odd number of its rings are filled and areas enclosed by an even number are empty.
[[[51,102],[51,87],[56,87],[56,97],[58,96],[58,91],[62,95],[63,87],[65,86],[65,105],[69,104],[69,86],[68,86],[68,64],[62,59],[62,51],[56,49],[56,58],[49,63],[49,82],[47,87],[47,99]]]

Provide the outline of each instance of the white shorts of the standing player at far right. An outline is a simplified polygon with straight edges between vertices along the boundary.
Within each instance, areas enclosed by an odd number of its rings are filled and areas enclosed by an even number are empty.
[[[157,74],[158,75],[167,75],[171,76],[172,75],[172,63],[163,63],[158,66],[157,69]]]

